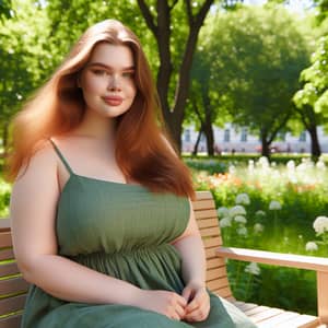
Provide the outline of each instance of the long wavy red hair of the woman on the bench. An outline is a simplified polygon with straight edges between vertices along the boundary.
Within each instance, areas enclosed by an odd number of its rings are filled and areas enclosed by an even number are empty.
[[[50,80],[14,117],[8,178],[13,180],[50,137],[67,133],[82,121],[85,102],[78,87],[78,75],[95,45],[104,42],[128,46],[136,67],[136,98],[131,108],[117,118],[115,156],[120,169],[127,178],[152,191],[195,199],[190,172],[167,143],[169,137],[164,130],[157,93],[140,42],[115,20],[87,28]]]

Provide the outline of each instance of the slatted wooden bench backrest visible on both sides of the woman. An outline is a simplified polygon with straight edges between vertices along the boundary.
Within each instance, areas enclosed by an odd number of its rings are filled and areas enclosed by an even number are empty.
[[[223,297],[232,297],[224,259],[215,256],[222,245],[212,194],[198,191],[192,207],[207,255],[207,285]],[[28,284],[14,260],[8,219],[0,220],[0,328],[19,328]]]

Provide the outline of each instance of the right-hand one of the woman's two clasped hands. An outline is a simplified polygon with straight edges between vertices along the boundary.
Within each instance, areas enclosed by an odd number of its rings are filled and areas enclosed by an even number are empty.
[[[186,321],[203,321],[210,313],[210,296],[203,284],[190,282],[183,291],[183,296],[188,302],[183,317]]]

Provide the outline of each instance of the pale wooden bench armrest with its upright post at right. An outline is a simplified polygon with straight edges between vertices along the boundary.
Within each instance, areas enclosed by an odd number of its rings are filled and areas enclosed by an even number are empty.
[[[316,271],[318,316],[323,324],[328,324],[328,258],[234,247],[220,247],[216,255],[235,260]]]

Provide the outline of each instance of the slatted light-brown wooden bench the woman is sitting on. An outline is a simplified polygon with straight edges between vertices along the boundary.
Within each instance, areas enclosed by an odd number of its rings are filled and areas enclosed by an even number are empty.
[[[328,259],[222,247],[218,214],[210,191],[197,192],[194,211],[206,247],[207,285],[211,291],[233,302],[260,328],[327,327]],[[226,276],[226,258],[315,270],[318,317],[236,301]],[[0,220],[0,328],[17,328],[28,284],[22,279],[14,261],[8,219]]]

